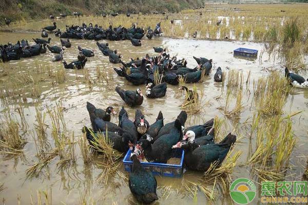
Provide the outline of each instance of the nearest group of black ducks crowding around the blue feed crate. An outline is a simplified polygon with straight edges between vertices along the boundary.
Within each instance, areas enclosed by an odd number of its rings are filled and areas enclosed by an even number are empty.
[[[143,159],[167,163],[168,159],[173,157],[174,150],[183,149],[186,169],[204,172],[215,161],[219,166],[236,142],[236,136],[231,133],[221,142],[214,142],[214,119],[203,125],[185,128],[185,111],[167,124],[160,111],[156,121],[149,124],[139,109],[136,109],[134,119],[130,120],[127,111],[122,107],[119,124],[116,125],[111,122],[111,115],[116,114],[113,107],[103,110],[87,102],[86,108],[92,128],[84,127],[83,132],[86,133],[90,145],[94,145],[93,142],[98,137],[105,136],[111,141],[113,149],[122,153],[131,150],[130,158],[133,164],[128,185],[131,193],[143,203],[158,200],[156,178],[141,166],[140,161]]]

